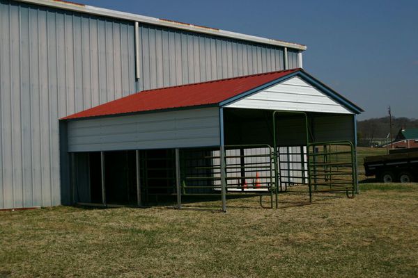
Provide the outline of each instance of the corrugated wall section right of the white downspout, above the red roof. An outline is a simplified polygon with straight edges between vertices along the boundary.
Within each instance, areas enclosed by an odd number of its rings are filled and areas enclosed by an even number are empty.
[[[141,90],[284,70],[284,49],[158,26],[139,28]],[[290,68],[297,51],[288,51]]]

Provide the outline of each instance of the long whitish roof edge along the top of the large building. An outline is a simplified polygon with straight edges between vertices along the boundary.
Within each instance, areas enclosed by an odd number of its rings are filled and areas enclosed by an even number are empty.
[[[148,17],[146,15],[136,15],[133,13],[125,13],[118,10],[110,10],[107,8],[98,8],[95,6],[88,6],[80,3],[63,1],[63,0],[15,0],[24,3],[33,3],[40,6],[48,6],[53,8],[61,8],[64,10],[72,10],[80,13],[88,13],[91,15],[101,15],[107,17],[113,17],[117,19],[131,20],[134,22],[142,22],[147,24],[166,26],[171,28],[177,28],[186,31],[205,33],[209,35],[217,35],[226,38],[235,38],[238,40],[247,40],[250,42],[258,42],[261,44],[272,44],[279,47],[288,47],[291,49],[298,49],[304,51],[307,46],[304,44],[297,44],[295,42],[284,42],[282,40],[274,40],[269,38],[262,38],[255,35],[246,35],[243,33],[236,33],[232,31],[226,31],[218,28],[210,28],[197,24],[188,24],[182,22],[176,22],[175,20],[160,19],[157,17]]]

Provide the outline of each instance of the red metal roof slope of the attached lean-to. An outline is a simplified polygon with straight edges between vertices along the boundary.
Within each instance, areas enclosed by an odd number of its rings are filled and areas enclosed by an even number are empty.
[[[146,90],[107,102],[106,104],[95,106],[68,117],[63,117],[61,120],[219,104],[222,101],[231,99],[232,97],[248,92],[265,83],[269,83],[275,79],[279,79],[300,70],[301,69],[284,70],[280,72],[254,74],[231,79]]]

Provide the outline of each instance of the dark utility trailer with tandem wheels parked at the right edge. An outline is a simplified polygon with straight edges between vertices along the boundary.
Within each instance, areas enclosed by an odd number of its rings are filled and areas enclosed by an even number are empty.
[[[408,183],[418,180],[418,148],[394,149],[383,156],[364,158],[366,177],[376,175],[379,181]]]

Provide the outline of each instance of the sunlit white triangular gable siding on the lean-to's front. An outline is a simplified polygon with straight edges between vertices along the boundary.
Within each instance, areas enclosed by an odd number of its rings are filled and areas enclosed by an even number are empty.
[[[297,76],[225,107],[353,114]]]

